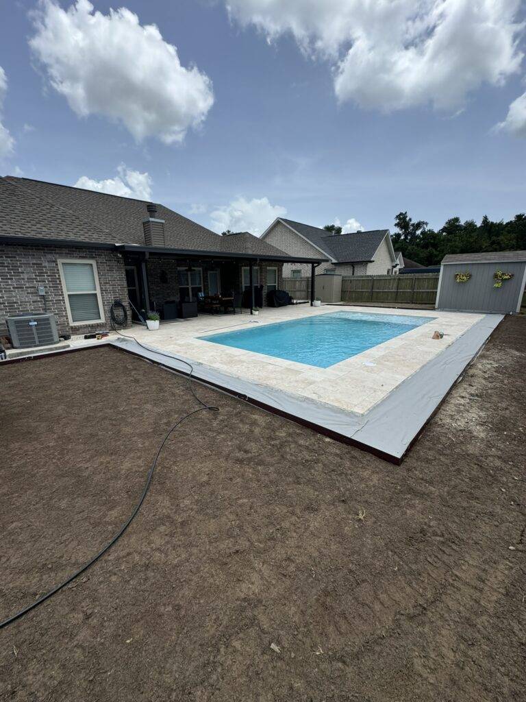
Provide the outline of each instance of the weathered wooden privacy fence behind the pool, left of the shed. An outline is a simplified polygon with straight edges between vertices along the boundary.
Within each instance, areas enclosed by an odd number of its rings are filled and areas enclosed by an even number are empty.
[[[283,288],[295,300],[309,300],[311,279],[283,278]],[[437,288],[438,273],[355,275],[342,278],[342,301],[434,305]]]

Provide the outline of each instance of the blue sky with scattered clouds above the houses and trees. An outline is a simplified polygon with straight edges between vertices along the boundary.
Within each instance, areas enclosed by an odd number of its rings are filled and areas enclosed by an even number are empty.
[[[342,13],[356,9],[353,5],[359,2],[330,1],[340,3]],[[458,5],[463,1],[447,0]],[[447,46],[444,55],[453,55],[458,65],[446,67],[450,73],[444,78],[415,61],[420,72],[411,77],[409,87],[398,74],[393,74],[388,87],[379,83],[382,64],[372,79],[362,75],[356,63],[346,74],[339,69],[352,41],[346,35],[328,39],[321,28],[326,27],[324,18],[306,13],[307,0],[303,6],[302,0],[291,2],[292,15],[286,17],[279,15],[277,4],[278,14],[263,20],[257,19],[258,0],[246,0],[242,7],[239,3],[231,4],[229,15],[219,0],[93,2],[95,10],[107,17],[110,8],[124,6],[137,15],[140,26],[155,24],[162,35],[157,44],[177,47],[185,89],[195,91],[190,102],[197,106],[187,105],[188,114],[181,117],[177,77],[170,84],[155,60],[149,69],[149,58],[141,51],[137,51],[137,65],[131,65],[135,59],[129,56],[127,65],[118,65],[119,45],[108,46],[113,32],[102,48],[92,37],[93,61],[100,66],[100,74],[111,72],[112,61],[116,70],[146,74],[148,89],[137,88],[142,91],[137,104],[146,112],[151,108],[162,114],[149,115],[153,126],[142,128],[133,123],[134,109],[122,116],[126,95],[121,102],[115,98],[121,117],[104,114],[108,110],[100,107],[100,100],[107,98],[102,88],[102,93],[97,92],[97,74],[95,81],[89,71],[87,77],[84,74],[90,58],[83,59],[83,67],[72,67],[67,76],[89,83],[89,114],[79,116],[79,107],[71,105],[72,95],[68,99],[67,90],[60,93],[50,81],[53,70],[55,79],[57,72],[59,79],[65,79],[63,55],[57,57],[56,46],[46,46],[46,37],[38,46],[29,46],[29,39],[43,34],[42,18],[50,3],[40,5],[37,20],[31,15],[38,7],[35,1],[1,2],[0,67],[6,87],[3,94],[0,91],[0,122],[14,143],[11,149],[4,148],[0,173],[67,185],[79,178],[111,181],[98,185],[102,189],[120,187],[115,183],[120,178],[132,194],[136,194],[133,183],[138,183],[139,194],[147,192],[151,199],[205,226],[249,228],[255,233],[269,218],[285,213],[313,225],[338,218],[342,223],[357,220],[365,229],[392,229],[400,210],[435,227],[450,216],[480,220],[487,214],[506,219],[526,210],[526,117],[522,124],[519,102],[514,114],[508,114],[525,91],[525,62],[520,61],[524,30],[510,29],[511,20],[521,19],[518,3],[483,0],[483,5],[508,12],[508,22],[502,20],[500,28],[501,49],[492,57],[492,65],[487,51],[483,55],[477,44],[468,47],[467,55],[465,42],[464,53],[458,46]],[[72,2],[60,6],[68,9]],[[84,10],[86,20],[90,13]],[[359,32],[363,27],[367,31],[369,21],[363,20]],[[347,26],[345,19],[340,24]],[[56,31],[54,44],[62,37]],[[389,33],[389,25],[381,31]],[[349,24],[349,32],[349,37],[358,36],[354,25]],[[453,44],[464,41],[455,32],[452,37]],[[386,48],[384,39],[375,37],[371,41],[378,54],[372,60],[387,60],[391,69],[396,45]],[[506,41],[513,41],[513,55]],[[72,63],[75,57],[76,53]],[[454,85],[456,76],[471,73],[478,62],[471,85]],[[438,63],[440,55],[433,58],[433,65]],[[192,65],[196,73],[188,76]],[[169,63],[163,66],[170,70]],[[338,71],[343,78],[336,88]],[[191,81],[196,86],[190,86]],[[108,101],[113,99],[114,95]],[[182,141],[173,137],[173,131],[167,135],[170,120],[177,122],[179,135],[184,132]],[[505,127],[495,130],[503,121]],[[141,128],[144,133],[137,132]],[[127,169],[132,172],[129,183]],[[147,173],[147,180],[133,181],[133,171]]]

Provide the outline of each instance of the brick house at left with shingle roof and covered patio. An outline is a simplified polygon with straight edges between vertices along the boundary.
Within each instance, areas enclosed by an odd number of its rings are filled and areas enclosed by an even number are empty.
[[[160,204],[0,178],[0,336],[21,312],[52,312],[61,334],[109,329],[117,299],[129,319],[128,300],[161,316],[165,303],[181,308],[198,293],[245,293],[250,306],[250,268],[266,304],[283,263],[324,259],[295,258],[248,232],[222,237]]]

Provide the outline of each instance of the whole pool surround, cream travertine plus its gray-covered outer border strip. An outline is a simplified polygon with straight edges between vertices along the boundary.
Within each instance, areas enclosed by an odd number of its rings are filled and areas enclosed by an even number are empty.
[[[178,373],[188,374],[191,364],[196,380],[399,464],[503,317],[358,305],[345,309],[434,319],[327,369],[198,337],[330,314],[341,306],[266,308],[257,317],[203,314],[161,324],[156,331],[134,325],[100,341],[72,338],[66,350],[62,345],[27,349],[20,359],[8,352],[7,362],[110,344]],[[444,332],[442,339],[431,338],[436,329]]]

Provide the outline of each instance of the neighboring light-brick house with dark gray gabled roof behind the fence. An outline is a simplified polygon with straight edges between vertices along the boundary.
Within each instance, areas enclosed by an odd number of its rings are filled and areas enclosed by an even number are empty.
[[[398,273],[398,262],[388,229],[353,234],[330,234],[318,227],[277,218],[262,240],[292,256],[323,256],[329,260],[316,274],[382,275]],[[285,264],[283,276],[302,278],[311,274],[306,265]]]

